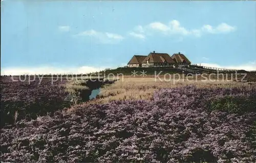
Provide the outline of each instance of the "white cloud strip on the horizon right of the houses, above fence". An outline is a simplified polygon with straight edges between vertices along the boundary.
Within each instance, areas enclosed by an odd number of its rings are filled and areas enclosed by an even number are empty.
[[[256,61],[249,62],[249,63],[246,63],[246,64],[226,65],[226,66],[222,66],[222,65],[214,64],[214,63],[201,63],[201,66],[227,68],[227,69],[244,69],[245,71],[256,71]]]

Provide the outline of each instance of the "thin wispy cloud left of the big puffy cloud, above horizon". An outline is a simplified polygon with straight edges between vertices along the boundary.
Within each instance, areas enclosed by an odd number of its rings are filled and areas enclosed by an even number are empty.
[[[92,37],[97,41],[99,41],[100,43],[117,43],[124,39],[123,36],[115,33],[98,32],[95,30],[83,31],[81,33],[78,33],[76,36]]]

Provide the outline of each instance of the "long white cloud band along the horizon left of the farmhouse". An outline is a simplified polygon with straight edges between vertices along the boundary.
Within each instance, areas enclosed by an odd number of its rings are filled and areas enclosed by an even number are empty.
[[[1,75],[34,75],[34,74],[87,74],[99,72],[106,67],[52,67],[52,66],[41,66],[41,67],[7,67],[1,68]]]

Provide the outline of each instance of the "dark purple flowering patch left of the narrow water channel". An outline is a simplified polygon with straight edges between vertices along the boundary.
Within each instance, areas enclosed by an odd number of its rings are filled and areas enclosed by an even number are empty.
[[[68,92],[60,86],[66,81],[51,82],[51,78],[42,78],[41,82],[37,78],[29,83],[1,77],[1,127],[70,107],[70,102],[65,100]]]

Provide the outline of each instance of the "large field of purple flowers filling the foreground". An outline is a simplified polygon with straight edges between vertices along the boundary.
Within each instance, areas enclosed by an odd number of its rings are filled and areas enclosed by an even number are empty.
[[[53,117],[20,121],[2,128],[1,159],[255,162],[255,105],[240,114],[209,109],[209,100],[227,96],[248,99],[255,94],[243,88],[186,86],[161,89],[152,101],[78,105],[70,114],[56,111]]]

